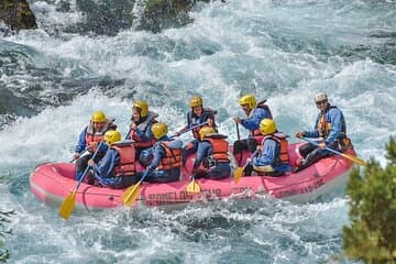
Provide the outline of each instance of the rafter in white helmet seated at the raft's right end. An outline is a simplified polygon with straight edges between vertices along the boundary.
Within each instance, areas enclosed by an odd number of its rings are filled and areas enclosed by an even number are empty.
[[[343,152],[348,147],[352,147],[351,140],[346,136],[346,123],[342,111],[331,106],[328,96],[319,92],[315,96],[315,103],[319,109],[312,130],[298,131],[296,138],[319,138],[318,146],[307,143],[300,146],[299,152],[302,160],[296,162],[294,172],[299,172],[320,158],[333,155],[326,147]]]

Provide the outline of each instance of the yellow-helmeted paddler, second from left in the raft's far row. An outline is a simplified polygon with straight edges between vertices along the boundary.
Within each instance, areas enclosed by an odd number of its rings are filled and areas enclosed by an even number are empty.
[[[140,154],[143,150],[152,147],[155,143],[151,128],[154,123],[157,123],[155,120],[158,117],[157,113],[148,110],[147,102],[143,100],[135,101],[132,106],[132,118],[130,125],[130,134],[127,139],[133,140],[136,160],[140,157]]]

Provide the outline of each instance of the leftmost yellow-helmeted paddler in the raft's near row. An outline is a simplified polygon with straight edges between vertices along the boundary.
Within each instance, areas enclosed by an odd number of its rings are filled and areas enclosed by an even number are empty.
[[[105,142],[108,150],[103,158],[99,163],[88,161],[94,168],[96,185],[119,189],[136,184],[140,178],[135,172],[133,142],[121,141],[121,133],[117,130],[106,132]]]

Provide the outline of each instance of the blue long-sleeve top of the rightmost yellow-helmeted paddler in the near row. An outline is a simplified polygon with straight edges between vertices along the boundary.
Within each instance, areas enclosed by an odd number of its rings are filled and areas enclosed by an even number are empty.
[[[252,157],[253,166],[272,166],[276,172],[288,172],[290,170],[289,164],[282,164],[277,162],[279,156],[280,145],[278,142],[272,139],[266,139],[263,143],[263,151],[258,156]]]

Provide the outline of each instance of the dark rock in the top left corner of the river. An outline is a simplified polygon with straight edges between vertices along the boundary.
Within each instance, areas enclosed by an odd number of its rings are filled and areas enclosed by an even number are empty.
[[[35,16],[25,0],[0,0],[0,20],[12,31],[37,29]]]

